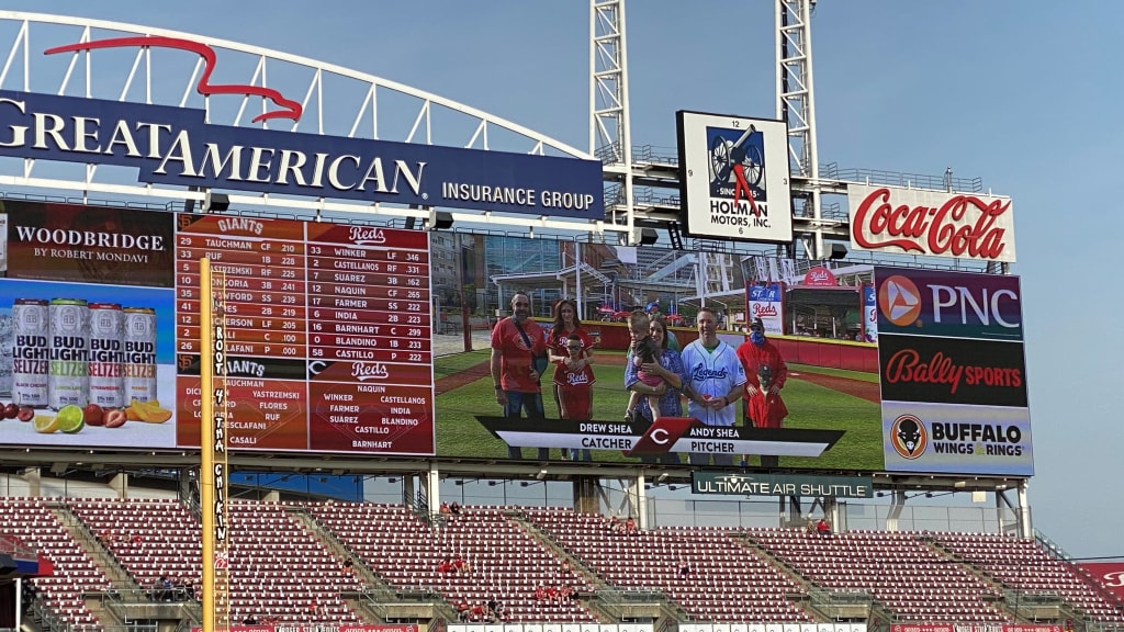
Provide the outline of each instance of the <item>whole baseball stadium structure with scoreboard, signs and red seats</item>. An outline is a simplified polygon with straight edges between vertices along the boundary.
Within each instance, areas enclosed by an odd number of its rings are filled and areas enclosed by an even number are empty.
[[[1124,631],[1032,524],[1012,199],[822,162],[770,4],[776,109],[674,147],[625,0],[588,147],[0,12],[0,630]]]

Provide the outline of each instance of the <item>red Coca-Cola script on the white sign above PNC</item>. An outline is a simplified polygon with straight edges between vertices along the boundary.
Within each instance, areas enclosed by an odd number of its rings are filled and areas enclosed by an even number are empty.
[[[890,189],[871,191],[854,210],[851,238],[868,250],[998,260],[1007,246],[999,218],[1009,199],[951,196],[940,206],[895,205]]]

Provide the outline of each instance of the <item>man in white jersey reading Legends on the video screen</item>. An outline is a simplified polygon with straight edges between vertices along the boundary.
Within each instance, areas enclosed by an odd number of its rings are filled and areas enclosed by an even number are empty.
[[[714,312],[699,309],[696,323],[699,337],[680,353],[687,382],[683,392],[690,399],[687,415],[708,426],[733,426],[745,389],[745,368],[733,346],[718,340],[718,318]],[[709,454],[692,453],[691,464],[706,466]],[[714,464],[733,466],[734,454],[714,454]]]

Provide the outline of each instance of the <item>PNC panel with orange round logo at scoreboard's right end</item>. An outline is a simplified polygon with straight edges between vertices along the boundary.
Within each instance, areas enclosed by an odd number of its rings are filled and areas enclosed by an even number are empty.
[[[881,333],[1023,340],[1017,277],[876,268]]]

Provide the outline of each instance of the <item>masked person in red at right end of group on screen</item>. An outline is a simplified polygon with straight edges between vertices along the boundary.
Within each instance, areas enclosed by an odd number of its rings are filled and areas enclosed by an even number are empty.
[[[780,397],[780,389],[788,380],[788,365],[780,351],[765,337],[765,326],[761,318],[750,323],[750,337],[737,347],[737,359],[745,369],[745,425],[747,427],[777,427],[788,416],[788,408]],[[762,367],[767,367],[764,371]],[[761,383],[761,376],[769,376],[769,383]],[[776,468],[779,459],[763,454],[761,466]]]

